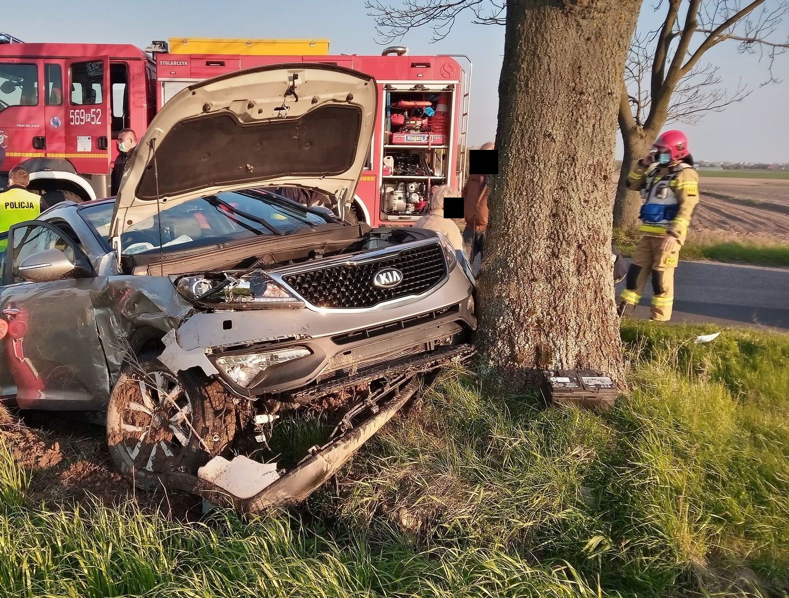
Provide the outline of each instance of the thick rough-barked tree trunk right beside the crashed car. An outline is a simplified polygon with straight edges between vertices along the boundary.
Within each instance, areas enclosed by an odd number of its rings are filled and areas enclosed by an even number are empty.
[[[478,345],[513,388],[537,370],[621,381],[611,170],[641,0],[508,0]]]

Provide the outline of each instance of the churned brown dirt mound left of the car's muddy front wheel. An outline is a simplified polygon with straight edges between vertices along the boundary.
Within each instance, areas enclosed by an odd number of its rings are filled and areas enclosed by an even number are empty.
[[[135,500],[143,510],[158,510],[178,520],[196,518],[202,503],[196,496],[160,489],[135,491],[115,469],[104,429],[54,413],[18,416],[0,406],[0,443],[28,472],[27,497],[52,509],[90,508],[98,500],[117,506]]]

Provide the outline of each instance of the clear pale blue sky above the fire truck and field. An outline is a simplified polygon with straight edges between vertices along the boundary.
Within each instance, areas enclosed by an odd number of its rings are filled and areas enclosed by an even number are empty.
[[[768,0],[769,1],[769,0]],[[656,18],[646,0],[642,21]],[[27,42],[133,43],[169,37],[323,38],[332,54],[379,54],[375,22],[363,0],[24,0],[2,2],[0,31]],[[659,17],[659,15],[657,16]],[[789,36],[789,21],[781,25]],[[429,43],[432,32],[417,29],[401,43],[411,54],[467,54],[473,60],[473,96],[469,143],[495,137],[498,81],[504,28],[458,20],[451,34]],[[754,88],[750,97],[722,114],[709,114],[700,124],[680,125],[690,136],[696,159],[789,162],[789,54],[773,69],[785,80],[759,88],[766,66],[757,57],[741,55],[736,44],[709,53],[724,65],[724,84],[740,78]],[[617,152],[619,154],[619,151]]]

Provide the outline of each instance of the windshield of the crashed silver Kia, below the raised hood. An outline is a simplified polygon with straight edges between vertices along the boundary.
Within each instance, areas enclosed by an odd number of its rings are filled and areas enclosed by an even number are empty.
[[[80,208],[80,215],[109,241],[114,204]],[[161,226],[159,226],[161,218]],[[211,245],[217,241],[261,235],[293,234],[299,230],[332,222],[328,217],[307,211],[288,200],[260,191],[231,191],[161,207],[159,215],[129,226],[121,235],[123,255],[173,245]]]

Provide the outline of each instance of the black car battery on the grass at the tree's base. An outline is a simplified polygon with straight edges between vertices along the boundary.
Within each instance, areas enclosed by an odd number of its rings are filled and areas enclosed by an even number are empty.
[[[540,394],[546,404],[574,405],[604,411],[614,405],[618,390],[611,376],[589,370],[545,370]]]

